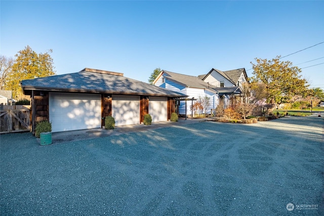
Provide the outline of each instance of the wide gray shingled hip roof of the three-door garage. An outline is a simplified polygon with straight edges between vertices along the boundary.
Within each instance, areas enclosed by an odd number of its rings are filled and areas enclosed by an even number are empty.
[[[140,94],[186,97],[182,93],[124,77],[123,74],[85,68],[72,74],[57,75],[21,82],[25,94],[31,90]]]

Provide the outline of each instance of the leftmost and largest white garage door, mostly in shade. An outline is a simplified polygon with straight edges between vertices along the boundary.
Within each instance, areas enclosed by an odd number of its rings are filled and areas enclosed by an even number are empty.
[[[53,132],[101,127],[99,94],[50,93],[49,106]]]

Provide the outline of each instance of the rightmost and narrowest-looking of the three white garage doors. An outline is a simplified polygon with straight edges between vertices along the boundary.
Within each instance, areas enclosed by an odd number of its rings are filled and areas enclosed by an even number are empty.
[[[168,121],[168,97],[149,97],[148,113],[152,122]]]

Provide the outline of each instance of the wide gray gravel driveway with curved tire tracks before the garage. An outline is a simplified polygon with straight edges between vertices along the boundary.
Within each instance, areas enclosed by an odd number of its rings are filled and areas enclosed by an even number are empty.
[[[324,214],[323,118],[170,125],[50,146],[2,134],[0,214]]]

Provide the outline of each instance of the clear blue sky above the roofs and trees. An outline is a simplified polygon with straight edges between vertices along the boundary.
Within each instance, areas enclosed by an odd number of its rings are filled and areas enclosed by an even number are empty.
[[[245,67],[251,77],[254,58],[272,59],[324,42],[324,1],[0,4],[1,55],[14,57],[27,45],[37,53],[52,49],[59,75],[90,67],[147,82],[156,67],[192,76]],[[307,67],[303,78],[324,89],[322,57],[324,43],[281,60]]]

